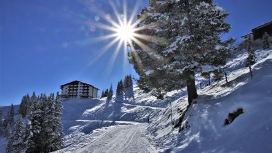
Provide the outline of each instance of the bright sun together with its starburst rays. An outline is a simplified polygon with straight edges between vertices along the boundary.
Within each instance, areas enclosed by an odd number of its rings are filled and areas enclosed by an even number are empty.
[[[126,5],[126,0],[123,3],[123,9],[118,8],[114,1],[109,1],[111,8],[113,9],[113,14],[109,14],[103,12],[101,9],[97,9],[99,7],[94,6],[92,11],[97,14],[95,16],[95,21],[88,20],[87,23],[92,26],[90,29],[92,32],[96,29],[100,29],[99,37],[95,37],[90,39],[92,42],[97,41],[106,41],[111,39],[100,49],[97,50],[97,54],[95,55],[95,59],[89,62],[88,65],[93,64],[99,57],[101,57],[107,50],[116,46],[115,49],[110,50],[113,52],[110,61],[108,62],[108,68],[110,69],[113,66],[113,63],[117,59],[119,52],[122,50],[124,52],[124,65],[126,65],[128,52],[133,52],[135,50],[134,46],[137,45],[140,48],[144,48],[144,50],[149,50],[148,46],[144,44],[142,41],[152,41],[153,37],[148,34],[141,33],[142,30],[148,29],[149,26],[140,26],[139,23],[146,17],[143,16],[139,19],[137,17],[137,11],[139,10],[140,1],[137,1],[130,12],[130,17],[128,17],[128,8]],[[92,3],[93,4],[93,3]],[[122,9],[123,13],[119,12],[118,9]],[[103,19],[103,20],[101,20]],[[94,28],[93,28],[94,27]],[[107,34],[103,34],[105,31]]]

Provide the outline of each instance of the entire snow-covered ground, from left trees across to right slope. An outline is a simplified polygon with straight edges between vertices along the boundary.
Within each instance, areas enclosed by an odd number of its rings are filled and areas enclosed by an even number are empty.
[[[186,112],[180,133],[178,128],[171,132],[171,112],[177,124],[187,106],[186,88],[168,92],[164,100],[137,85],[112,101],[65,100],[65,147],[57,152],[272,152],[272,50],[256,51],[253,79],[244,68],[246,57],[237,52],[228,61],[228,84],[223,78],[200,89],[207,81],[196,76],[199,98]],[[237,108],[244,113],[224,125]],[[0,152],[5,147],[0,138]]]

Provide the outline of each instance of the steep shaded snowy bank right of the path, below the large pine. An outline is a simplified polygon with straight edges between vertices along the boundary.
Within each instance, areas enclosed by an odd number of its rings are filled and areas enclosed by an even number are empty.
[[[171,133],[171,108],[155,116],[150,138],[164,152],[272,152],[272,50],[258,50],[253,79],[244,68],[246,53],[229,61],[229,83],[224,80],[198,90],[197,103],[184,117],[184,130]],[[269,55],[270,54],[270,55]],[[173,101],[173,121],[187,105],[186,96]],[[230,125],[229,112],[243,108]],[[187,126],[186,126],[187,125]]]

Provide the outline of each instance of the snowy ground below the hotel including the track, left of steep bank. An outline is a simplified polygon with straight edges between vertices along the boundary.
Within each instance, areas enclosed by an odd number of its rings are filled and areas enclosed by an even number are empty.
[[[58,152],[133,152],[133,148],[155,152],[144,136],[146,122],[148,116],[162,112],[166,102],[154,102],[155,97],[150,94],[144,98],[140,95],[142,90],[135,86],[128,88],[123,96],[114,96],[113,101],[106,98],[64,100],[61,120],[66,140],[65,148]]]

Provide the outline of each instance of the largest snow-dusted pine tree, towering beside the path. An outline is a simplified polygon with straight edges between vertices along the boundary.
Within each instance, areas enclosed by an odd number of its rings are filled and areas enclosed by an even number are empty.
[[[222,68],[229,54],[228,13],[211,0],[153,0],[138,15],[145,45],[133,43],[130,63],[139,87],[175,90],[187,85],[188,103],[197,98],[195,73]]]

